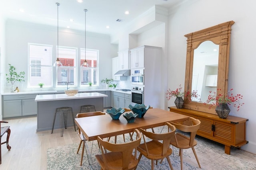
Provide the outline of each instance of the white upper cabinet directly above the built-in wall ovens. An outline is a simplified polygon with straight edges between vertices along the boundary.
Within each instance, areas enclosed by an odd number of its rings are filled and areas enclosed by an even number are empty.
[[[131,50],[131,68],[144,68],[144,47]]]

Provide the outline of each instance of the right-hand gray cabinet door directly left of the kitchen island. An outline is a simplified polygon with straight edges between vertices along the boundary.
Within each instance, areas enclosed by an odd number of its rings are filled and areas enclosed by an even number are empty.
[[[22,100],[22,115],[36,115],[37,114],[37,102],[34,99]]]

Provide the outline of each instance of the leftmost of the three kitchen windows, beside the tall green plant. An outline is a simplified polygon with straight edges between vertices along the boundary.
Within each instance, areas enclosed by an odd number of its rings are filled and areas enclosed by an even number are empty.
[[[28,44],[29,77],[28,87],[38,87],[38,83],[44,86],[52,86],[52,46]]]

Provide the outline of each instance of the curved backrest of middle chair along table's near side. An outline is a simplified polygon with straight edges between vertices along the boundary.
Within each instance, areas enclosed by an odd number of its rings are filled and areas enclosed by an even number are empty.
[[[152,133],[152,132],[149,132],[149,131],[146,131],[144,129],[140,129],[140,131],[142,132],[142,135],[143,135],[143,140],[144,140],[144,143],[146,144],[146,139],[144,137],[144,135],[150,139],[152,139],[153,141],[162,141],[162,144],[163,144],[163,147],[162,147],[162,156],[164,154],[166,154],[167,150],[169,149],[170,147],[170,141],[171,141],[171,138],[174,137],[174,134],[175,134],[175,131],[176,131],[176,127],[174,125],[171,125],[170,123],[166,123],[166,125],[168,126],[168,128],[171,129],[170,132],[168,133]],[[146,151],[147,151],[147,154],[152,154],[150,153],[150,151],[148,150],[148,147],[146,145]]]

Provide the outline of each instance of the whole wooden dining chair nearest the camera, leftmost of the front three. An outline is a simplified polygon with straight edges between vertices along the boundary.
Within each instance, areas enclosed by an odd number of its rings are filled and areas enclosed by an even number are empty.
[[[137,147],[140,145],[141,133],[134,130],[136,138],[128,143],[110,143],[98,137],[102,154],[96,155],[102,170],[132,170],[138,165]],[[132,152],[134,151],[134,155]]]

